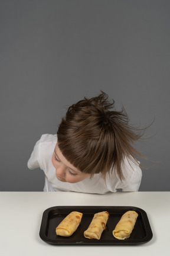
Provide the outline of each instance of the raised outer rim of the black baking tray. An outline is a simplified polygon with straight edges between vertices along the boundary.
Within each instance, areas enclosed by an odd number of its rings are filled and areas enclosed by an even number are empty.
[[[57,242],[55,239],[51,239],[51,238],[48,238],[48,236],[45,235],[45,230],[47,228],[47,221],[48,221],[48,215],[49,213],[52,211],[52,210],[57,210],[57,209],[61,209],[61,210],[64,210],[64,209],[70,209],[71,211],[73,210],[86,210],[86,209],[91,209],[91,210],[95,210],[95,208],[97,209],[101,209],[101,210],[108,210],[109,212],[109,209],[120,209],[120,210],[136,210],[138,212],[141,213],[141,216],[142,216],[142,219],[144,218],[145,221],[143,220],[143,223],[145,225],[145,228],[147,230],[147,235],[145,236],[145,238],[141,238],[141,239],[132,239],[132,240],[128,240],[128,239],[125,239],[125,240],[119,240],[119,239],[116,239],[116,240],[113,240],[113,242],[101,242],[102,240],[100,240],[100,243],[99,241],[95,240],[95,239],[91,239],[90,241],[87,240],[87,242],[73,242],[73,241],[70,241],[70,239],[68,239],[68,241],[66,242],[66,240],[63,240],[62,239]],[[99,212],[96,211],[96,212]],[[45,224],[45,223],[46,224]],[[146,242],[149,242],[152,237],[153,237],[153,233],[152,233],[152,229],[151,229],[151,225],[149,223],[149,219],[148,219],[148,215],[147,213],[145,212],[145,210],[139,208],[139,207],[136,207],[136,206],[52,206],[52,207],[49,207],[47,208],[46,210],[44,210],[44,212],[42,213],[42,219],[41,219],[41,226],[40,226],[40,232],[39,232],[39,236],[40,238],[42,239],[42,241],[44,242],[47,242],[48,244],[51,244],[51,245],[140,245],[140,244],[144,244]]]

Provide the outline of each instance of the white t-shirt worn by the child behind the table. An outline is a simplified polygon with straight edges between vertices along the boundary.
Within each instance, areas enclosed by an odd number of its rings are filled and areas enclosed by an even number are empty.
[[[57,180],[55,168],[52,164],[52,155],[57,143],[57,135],[42,135],[35,144],[31,157],[28,160],[28,168],[41,168],[45,174],[44,191],[74,191],[82,193],[105,194],[108,192],[138,191],[142,179],[142,171],[138,164],[125,159],[123,175],[125,180],[121,181],[113,172],[111,176],[106,175],[106,182],[100,174],[94,174],[93,178],[87,177],[79,183],[63,183]]]

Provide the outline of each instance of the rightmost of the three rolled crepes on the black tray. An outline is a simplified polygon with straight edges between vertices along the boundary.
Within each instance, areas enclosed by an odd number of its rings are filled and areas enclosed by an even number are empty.
[[[119,240],[129,238],[135,226],[137,217],[138,213],[135,211],[128,211],[122,215],[115,227],[115,230],[113,230],[113,236]]]

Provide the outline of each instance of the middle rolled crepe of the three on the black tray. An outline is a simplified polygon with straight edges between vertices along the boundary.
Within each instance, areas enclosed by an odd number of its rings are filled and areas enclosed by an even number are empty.
[[[108,219],[109,219],[108,212],[99,212],[94,214],[94,217],[91,220],[89,228],[87,228],[87,230],[84,231],[84,237],[89,239],[99,240],[103,230],[106,227],[106,223]]]

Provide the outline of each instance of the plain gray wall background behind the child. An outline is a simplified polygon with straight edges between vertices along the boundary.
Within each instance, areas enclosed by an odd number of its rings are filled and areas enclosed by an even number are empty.
[[[170,1],[1,0],[1,191],[42,191],[35,142],[100,89],[149,140],[140,191],[169,191]]]

